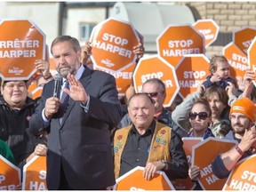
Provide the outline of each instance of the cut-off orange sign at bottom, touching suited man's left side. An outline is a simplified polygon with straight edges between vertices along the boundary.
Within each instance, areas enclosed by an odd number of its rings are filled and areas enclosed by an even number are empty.
[[[25,164],[22,190],[47,190],[46,156],[34,156]]]

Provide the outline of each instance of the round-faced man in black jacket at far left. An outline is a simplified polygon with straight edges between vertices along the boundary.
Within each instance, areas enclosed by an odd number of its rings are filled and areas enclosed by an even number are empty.
[[[36,101],[28,97],[26,83],[23,80],[3,81],[0,96],[0,139],[12,149],[20,168],[28,163],[28,156],[35,155],[38,144],[45,144],[42,137],[36,137],[28,131],[28,122],[35,112]],[[44,152],[43,156],[46,149]]]

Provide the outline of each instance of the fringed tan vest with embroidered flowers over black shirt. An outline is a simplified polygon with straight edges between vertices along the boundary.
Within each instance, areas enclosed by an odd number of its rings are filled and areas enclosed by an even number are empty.
[[[121,156],[124,151],[126,140],[132,125],[119,129],[114,137],[114,156],[115,156],[115,176],[119,177]],[[156,162],[160,160],[171,161],[170,156],[170,141],[172,128],[156,122],[155,132],[153,134],[150,150],[148,154],[148,162]]]

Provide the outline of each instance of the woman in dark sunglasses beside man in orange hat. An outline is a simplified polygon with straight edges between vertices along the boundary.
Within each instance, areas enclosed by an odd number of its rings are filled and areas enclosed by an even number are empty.
[[[207,100],[197,99],[190,112],[188,113],[188,121],[191,127],[188,137],[202,137],[204,140],[208,137],[214,137],[209,125],[212,124],[212,110]],[[200,169],[197,166],[191,166],[188,170],[188,175],[196,184],[195,190],[201,190],[201,186],[196,181],[200,174]]]

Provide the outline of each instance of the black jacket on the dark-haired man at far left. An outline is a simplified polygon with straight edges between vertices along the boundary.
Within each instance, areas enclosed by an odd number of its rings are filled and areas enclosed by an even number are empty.
[[[0,139],[12,150],[16,164],[21,168],[38,143],[44,143],[28,131],[28,118],[36,108],[36,101],[27,98],[20,110],[13,110],[0,95]]]

